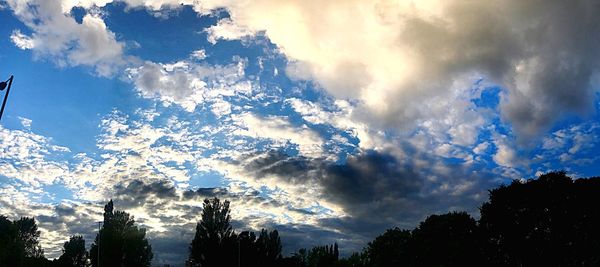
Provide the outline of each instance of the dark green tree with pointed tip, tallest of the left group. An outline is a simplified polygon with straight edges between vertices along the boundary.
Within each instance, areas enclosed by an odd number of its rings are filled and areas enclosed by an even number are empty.
[[[98,264],[100,242],[101,266],[150,266],[152,247],[146,229],[135,226],[133,217],[124,211],[113,211],[113,201],[104,206],[104,224],[90,248],[92,266]]]

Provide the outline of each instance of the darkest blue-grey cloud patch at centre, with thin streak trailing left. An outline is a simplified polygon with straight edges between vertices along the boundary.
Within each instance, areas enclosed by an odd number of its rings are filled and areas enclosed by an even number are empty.
[[[409,197],[422,186],[422,177],[409,165],[375,151],[349,156],[344,164],[271,151],[244,168],[256,179],[277,175],[290,184],[317,183],[323,197],[346,207]]]

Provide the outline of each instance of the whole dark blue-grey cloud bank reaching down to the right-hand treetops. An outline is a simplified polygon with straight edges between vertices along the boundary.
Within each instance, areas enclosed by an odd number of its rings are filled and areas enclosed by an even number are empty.
[[[408,145],[404,150],[414,152]],[[450,174],[435,173],[433,167],[440,159],[422,153],[411,156],[429,162],[428,166],[418,168],[412,161],[401,162],[391,154],[376,151],[349,156],[344,163],[289,156],[280,151],[254,155],[239,163],[258,180],[275,175],[295,186],[317,184],[321,188],[318,197],[340,205],[347,216],[320,219],[315,228],[301,231],[305,236],[328,232],[325,236],[331,236],[331,240],[335,236],[354,242],[352,249],[358,250],[385,229],[413,228],[429,214],[466,210],[477,216],[477,206],[495,183],[492,174],[472,174],[461,164],[446,165]],[[297,228],[283,229],[282,235],[292,233],[287,240],[290,245],[299,242],[292,247],[307,243],[293,238]]]

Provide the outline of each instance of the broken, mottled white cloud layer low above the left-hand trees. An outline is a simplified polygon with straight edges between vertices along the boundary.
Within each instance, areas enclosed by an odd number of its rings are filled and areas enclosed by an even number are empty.
[[[0,185],[0,212],[13,218],[36,216],[42,231],[42,246],[48,257],[61,253],[65,236],[84,234],[91,240],[95,229],[93,223],[101,215],[101,204],[109,198],[115,199],[118,209],[135,215],[136,221],[148,228],[151,242],[159,236],[174,238],[167,229],[180,229],[178,234],[185,234],[186,242],[189,242],[196,222],[190,212],[199,215],[201,200],[210,195],[186,190],[195,171],[193,166],[208,164],[212,171],[231,175],[227,178],[231,184],[219,189],[223,192],[219,196],[232,201],[234,218],[246,227],[260,229],[290,223],[317,225],[320,218],[331,216],[329,213],[300,211],[319,206],[315,195],[288,195],[291,191],[281,191],[286,188],[283,186],[277,189],[279,191],[258,195],[256,190],[264,185],[239,183],[237,174],[243,174],[242,166],[222,160],[222,154],[206,158],[204,152],[212,148],[213,131],[221,129],[195,128],[174,116],[160,120],[164,123],[151,124],[154,116],[147,114],[154,113],[156,111],[152,109],[139,110],[131,116],[112,112],[100,125],[102,134],[97,142],[103,153],[101,157],[78,154],[69,162],[56,161],[57,151],[68,149],[53,145],[51,139],[29,130],[0,127],[0,153],[6,157],[0,161],[0,176],[27,185]],[[266,138],[281,139],[283,134],[296,130],[281,118],[268,121],[267,127],[279,129],[281,135],[267,135]],[[318,138],[311,130],[300,129],[287,136],[291,138],[290,142],[305,148],[322,141],[311,139]],[[228,149],[235,148],[223,147],[221,150]],[[255,148],[248,149],[253,151]],[[50,152],[53,157],[46,157]],[[232,152],[239,155],[235,150]],[[60,172],[56,172],[56,168]],[[44,185],[64,185],[72,191],[74,200],[44,204],[41,196],[51,193],[41,188]],[[294,190],[300,192],[298,188]],[[144,194],[157,195],[146,201]],[[85,204],[89,202],[94,204]],[[71,209],[74,209],[72,214],[67,212]]]

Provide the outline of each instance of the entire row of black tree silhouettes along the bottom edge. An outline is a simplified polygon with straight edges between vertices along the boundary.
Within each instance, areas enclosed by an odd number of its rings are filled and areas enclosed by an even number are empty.
[[[341,258],[338,244],[281,253],[277,230],[236,233],[229,202],[204,200],[189,246],[187,266],[392,267],[392,266],[600,266],[600,177],[573,180],[552,172],[489,191],[480,219],[466,212],[430,215],[412,230],[392,228],[361,251]],[[2,266],[150,266],[152,247],[133,218],[104,208],[104,225],[91,249],[82,236],[63,254],[44,257],[33,218],[0,216]]]

